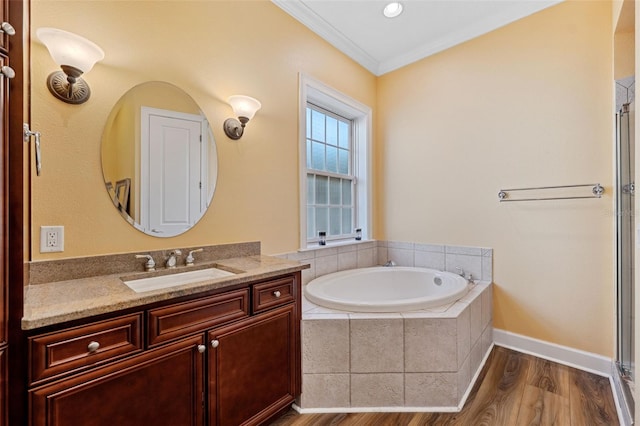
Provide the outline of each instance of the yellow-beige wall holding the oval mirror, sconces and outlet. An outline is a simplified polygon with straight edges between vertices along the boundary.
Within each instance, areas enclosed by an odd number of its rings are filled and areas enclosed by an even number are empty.
[[[375,77],[263,1],[32,2],[32,128],[42,132],[43,172],[32,180],[33,259],[261,241],[263,252],[298,247],[298,73],[375,107]],[[75,106],[45,87],[56,69],[35,30],[83,35],[105,51]],[[144,35],[144,36],[143,36]],[[186,234],[146,236],[117,213],[104,190],[100,140],[112,106],[131,87],[182,87],[212,123],[220,168],[214,201]],[[245,136],[222,132],[230,95],[259,99]],[[41,225],[64,225],[65,252],[39,253]]]

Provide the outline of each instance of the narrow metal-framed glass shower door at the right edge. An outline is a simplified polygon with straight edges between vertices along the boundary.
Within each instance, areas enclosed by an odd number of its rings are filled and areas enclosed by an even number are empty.
[[[617,114],[616,222],[617,222],[617,364],[621,376],[634,379],[634,110],[622,105]]]

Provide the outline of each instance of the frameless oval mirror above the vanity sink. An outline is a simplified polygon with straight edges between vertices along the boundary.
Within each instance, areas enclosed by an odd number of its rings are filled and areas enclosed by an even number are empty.
[[[182,89],[142,83],[113,107],[102,173],[113,205],[136,229],[155,237],[189,230],[211,203],[217,172],[209,122]]]

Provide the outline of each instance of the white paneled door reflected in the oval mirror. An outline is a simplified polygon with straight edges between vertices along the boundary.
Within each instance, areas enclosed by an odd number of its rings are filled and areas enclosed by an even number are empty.
[[[180,234],[201,216],[203,117],[142,108],[141,225],[161,237]]]

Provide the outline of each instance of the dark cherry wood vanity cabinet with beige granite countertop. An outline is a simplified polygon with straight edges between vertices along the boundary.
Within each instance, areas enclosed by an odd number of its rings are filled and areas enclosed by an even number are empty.
[[[29,424],[258,425],[288,410],[307,266],[258,255],[216,267],[235,273],[143,293],[121,274],[30,286]]]

